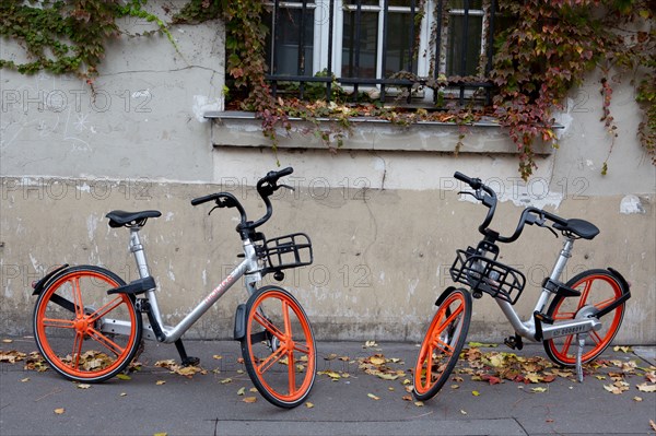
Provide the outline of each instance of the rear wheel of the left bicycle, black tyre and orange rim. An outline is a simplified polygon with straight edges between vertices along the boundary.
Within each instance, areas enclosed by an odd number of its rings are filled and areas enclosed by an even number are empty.
[[[71,380],[98,382],[132,361],[142,322],[134,297],[107,295],[121,285],[118,275],[93,266],[68,268],[50,280],[36,301],[33,327],[52,369]]]

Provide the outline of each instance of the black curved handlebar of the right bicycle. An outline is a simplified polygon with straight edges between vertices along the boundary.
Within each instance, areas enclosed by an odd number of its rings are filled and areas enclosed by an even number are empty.
[[[473,193],[471,193],[471,192],[462,192],[462,193],[469,193],[469,195],[473,196],[477,200],[481,201],[483,203],[483,205],[485,205],[489,209],[488,214],[485,215],[485,219],[483,220],[483,223],[479,226],[479,232],[481,234],[483,234],[483,236],[492,238],[495,241],[497,240],[500,243],[505,243],[505,244],[514,243],[515,240],[517,240],[519,235],[522,235],[525,224],[528,224],[528,225],[537,224],[540,227],[543,227],[546,221],[549,220],[549,221],[560,224],[560,225],[567,225],[567,220],[565,220],[565,219],[562,219],[558,215],[554,215],[553,213],[543,211],[541,209],[529,207],[529,208],[526,208],[522,212],[522,215],[519,216],[519,222],[517,223],[517,228],[515,228],[515,232],[511,236],[502,236],[497,232],[495,232],[489,227],[490,223],[492,222],[492,219],[494,217],[494,212],[496,211],[496,192],[494,192],[494,190],[492,188],[490,188],[489,186],[483,184],[480,178],[472,178],[472,177],[464,175],[460,172],[456,172],[454,174],[454,177],[460,181],[466,182],[475,190]]]

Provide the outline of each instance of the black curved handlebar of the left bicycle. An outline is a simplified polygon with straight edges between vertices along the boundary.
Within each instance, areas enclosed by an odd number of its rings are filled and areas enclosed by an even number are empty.
[[[191,205],[198,205],[198,204],[207,203],[208,201],[214,201],[216,203],[216,205],[210,211],[210,213],[212,213],[212,211],[215,208],[237,208],[237,210],[239,211],[239,215],[241,215],[241,222],[239,222],[239,225],[237,226],[237,231],[255,229],[256,227],[265,224],[271,217],[271,214],[273,213],[273,209],[271,207],[271,201],[269,200],[269,197],[282,187],[293,190],[293,188],[290,186],[278,185],[278,180],[281,177],[289,176],[293,172],[294,172],[294,168],[292,168],[291,166],[283,168],[281,170],[278,170],[278,172],[269,172],[269,173],[267,173],[267,175],[265,177],[260,178],[257,181],[257,185],[256,185],[257,192],[260,195],[260,197],[265,201],[265,205],[267,207],[267,212],[265,213],[265,215],[261,219],[259,219],[255,222],[248,221],[248,217],[246,216],[246,211],[244,210],[244,207],[242,205],[239,200],[237,200],[237,198],[230,192],[214,192],[214,193],[210,193],[208,196],[195,198],[191,200]]]

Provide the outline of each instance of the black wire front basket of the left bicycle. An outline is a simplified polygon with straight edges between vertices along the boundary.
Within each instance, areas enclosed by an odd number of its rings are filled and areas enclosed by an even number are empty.
[[[304,233],[267,239],[262,254],[267,258],[267,270],[270,271],[303,267],[313,261],[312,243]]]

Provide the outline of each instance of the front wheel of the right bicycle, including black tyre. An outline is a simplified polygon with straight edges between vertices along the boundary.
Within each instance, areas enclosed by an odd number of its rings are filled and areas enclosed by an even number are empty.
[[[414,365],[412,393],[418,400],[435,397],[454,370],[469,330],[471,305],[471,294],[464,288],[444,294]]]

